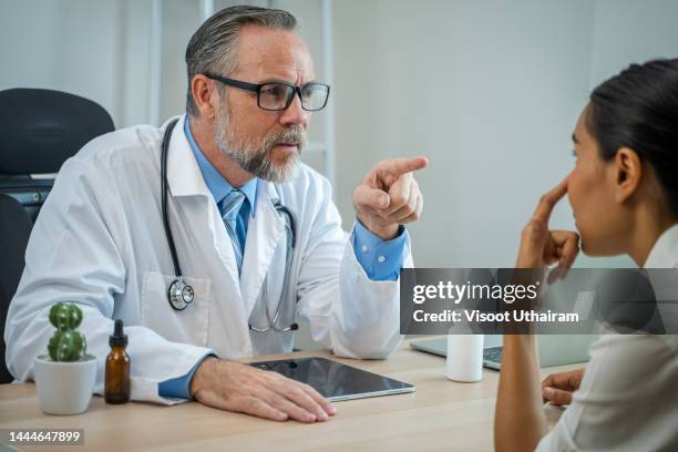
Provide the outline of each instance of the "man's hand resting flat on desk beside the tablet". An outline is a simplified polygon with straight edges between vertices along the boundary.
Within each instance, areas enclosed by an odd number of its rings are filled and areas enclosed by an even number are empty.
[[[191,381],[198,402],[274,421],[327,421],[337,410],[308,384],[235,361],[208,357]]]

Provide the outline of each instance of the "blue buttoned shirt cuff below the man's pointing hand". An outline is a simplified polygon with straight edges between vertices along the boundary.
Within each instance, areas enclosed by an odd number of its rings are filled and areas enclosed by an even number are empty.
[[[404,261],[410,235],[404,226],[388,242],[366,228],[358,219],[353,223],[353,251],[356,259],[373,281],[397,281]]]

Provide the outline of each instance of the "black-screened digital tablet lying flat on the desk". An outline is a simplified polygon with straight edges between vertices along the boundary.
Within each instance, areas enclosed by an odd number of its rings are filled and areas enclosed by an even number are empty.
[[[414,392],[417,389],[412,384],[325,358],[260,361],[250,366],[309,384],[331,402]]]

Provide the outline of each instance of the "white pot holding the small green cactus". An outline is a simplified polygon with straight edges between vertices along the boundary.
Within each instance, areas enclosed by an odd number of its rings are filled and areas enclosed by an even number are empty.
[[[80,361],[52,361],[49,355],[33,363],[40,408],[48,414],[80,414],[88,410],[96,381],[96,358],[85,355]]]

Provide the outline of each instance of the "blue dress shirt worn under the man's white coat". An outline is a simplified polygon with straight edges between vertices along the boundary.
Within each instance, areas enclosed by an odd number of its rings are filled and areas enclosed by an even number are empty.
[[[205,184],[209,188],[209,193],[214,197],[214,201],[219,202],[233,189],[233,186],[226,181],[217,170],[209,163],[205,157],[198,145],[195,143],[188,125],[188,116],[184,122],[184,133],[195,160],[203,173]],[[243,203],[243,207],[238,212],[236,218],[236,234],[238,239],[245,246],[245,239],[247,238],[247,225],[249,217],[254,217],[256,201],[257,201],[257,186],[258,179],[253,178],[247,184],[240,187],[240,191],[245,194],[247,202]],[[402,263],[404,260],[405,244],[409,240],[409,234],[403,226],[400,226],[398,236],[391,240],[384,242],[379,236],[366,228],[360,222],[353,223],[353,237],[352,245],[356,253],[356,259],[360,263],[360,266],[367,274],[367,276],[374,281],[394,281],[400,275]],[[162,397],[174,397],[182,399],[191,398],[191,380],[197,369],[198,364],[208,357],[215,355],[214,350],[209,350],[202,357],[196,364],[185,376],[177,377],[172,380],[162,381],[158,384],[158,393]]]

